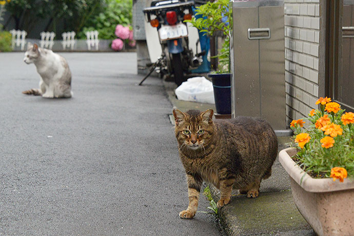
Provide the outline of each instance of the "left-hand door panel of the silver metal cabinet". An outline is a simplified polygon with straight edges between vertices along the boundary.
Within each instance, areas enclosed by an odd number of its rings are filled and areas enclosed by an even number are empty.
[[[258,8],[233,8],[234,116],[260,116],[259,50],[257,40],[248,40],[248,28],[258,28]]]

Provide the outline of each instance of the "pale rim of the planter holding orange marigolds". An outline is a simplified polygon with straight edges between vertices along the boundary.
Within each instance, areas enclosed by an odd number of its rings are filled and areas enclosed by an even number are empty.
[[[332,178],[314,179],[305,173],[290,156],[296,154],[296,148],[290,147],[279,152],[279,162],[282,164],[290,177],[307,192],[332,192],[354,189],[354,181],[351,178],[333,181]],[[303,177],[303,175],[305,176]],[[301,180],[302,179],[302,180]],[[300,184],[301,183],[301,184]]]

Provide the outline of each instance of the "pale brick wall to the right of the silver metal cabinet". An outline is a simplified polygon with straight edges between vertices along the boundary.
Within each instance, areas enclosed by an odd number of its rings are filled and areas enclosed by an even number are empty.
[[[284,1],[287,124],[317,108],[319,97],[320,0]]]

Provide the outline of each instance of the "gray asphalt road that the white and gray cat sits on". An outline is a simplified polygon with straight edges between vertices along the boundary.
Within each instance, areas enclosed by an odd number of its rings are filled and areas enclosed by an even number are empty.
[[[43,99],[24,53],[0,53],[0,235],[220,235],[188,205],[162,81],[135,53],[61,53],[72,99]],[[201,196],[199,210],[207,210]]]

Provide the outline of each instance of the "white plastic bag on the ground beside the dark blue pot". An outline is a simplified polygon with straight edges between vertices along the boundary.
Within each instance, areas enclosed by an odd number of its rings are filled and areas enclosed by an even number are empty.
[[[214,104],[212,83],[205,77],[188,78],[174,93],[178,100]]]

